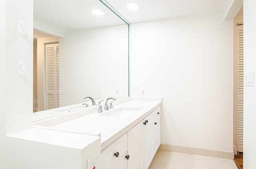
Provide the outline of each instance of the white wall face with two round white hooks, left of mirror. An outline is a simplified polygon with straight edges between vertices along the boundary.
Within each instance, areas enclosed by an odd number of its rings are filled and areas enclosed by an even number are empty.
[[[27,33],[21,36],[17,23],[23,20]],[[16,71],[23,61],[26,73]],[[6,134],[32,127],[33,111],[33,0],[6,1]],[[22,120],[21,120],[22,119]]]

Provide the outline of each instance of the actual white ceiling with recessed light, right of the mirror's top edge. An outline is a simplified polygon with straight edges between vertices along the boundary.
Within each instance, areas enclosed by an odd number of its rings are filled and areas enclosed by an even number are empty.
[[[218,12],[223,18],[234,0],[106,0],[129,22],[144,22],[167,18]],[[139,10],[128,10],[126,4],[135,2]]]

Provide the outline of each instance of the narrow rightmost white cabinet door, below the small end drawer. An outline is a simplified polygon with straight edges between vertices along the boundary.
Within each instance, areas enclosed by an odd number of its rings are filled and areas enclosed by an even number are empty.
[[[156,151],[158,150],[160,143],[161,143],[161,121],[160,121],[160,117],[158,117],[155,121],[154,121],[154,154],[156,153]]]

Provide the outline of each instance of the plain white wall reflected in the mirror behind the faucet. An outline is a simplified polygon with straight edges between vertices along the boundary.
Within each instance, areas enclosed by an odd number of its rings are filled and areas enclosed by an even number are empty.
[[[127,25],[73,31],[60,39],[60,106],[86,96],[115,96],[116,89],[128,96]]]

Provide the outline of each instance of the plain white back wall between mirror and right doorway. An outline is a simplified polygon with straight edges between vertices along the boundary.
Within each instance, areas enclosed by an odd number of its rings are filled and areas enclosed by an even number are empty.
[[[162,97],[161,143],[233,152],[233,20],[132,24],[131,96]]]

